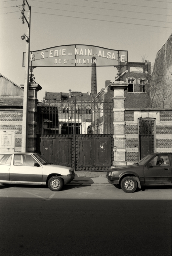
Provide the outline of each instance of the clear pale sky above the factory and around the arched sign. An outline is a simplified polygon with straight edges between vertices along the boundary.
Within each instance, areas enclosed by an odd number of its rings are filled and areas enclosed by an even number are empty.
[[[31,6],[30,51],[54,46],[87,44],[128,51],[128,61],[154,63],[172,33],[170,0],[28,0]],[[24,84],[23,52],[27,23],[22,23],[23,0],[0,0],[0,73]],[[27,4],[25,16],[27,16]],[[97,67],[97,92],[113,82],[114,67]],[[36,82],[45,92],[91,91],[91,67],[37,67]]]

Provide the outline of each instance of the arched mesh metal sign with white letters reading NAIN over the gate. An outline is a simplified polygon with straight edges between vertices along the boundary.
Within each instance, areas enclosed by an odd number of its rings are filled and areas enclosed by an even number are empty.
[[[25,55],[24,52],[23,67]],[[30,52],[30,67],[91,67],[92,64],[96,64],[97,67],[127,66],[128,51],[71,44]]]

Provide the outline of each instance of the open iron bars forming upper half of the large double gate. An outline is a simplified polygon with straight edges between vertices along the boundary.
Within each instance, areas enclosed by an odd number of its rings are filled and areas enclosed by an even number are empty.
[[[43,100],[37,134],[113,134],[113,102]]]

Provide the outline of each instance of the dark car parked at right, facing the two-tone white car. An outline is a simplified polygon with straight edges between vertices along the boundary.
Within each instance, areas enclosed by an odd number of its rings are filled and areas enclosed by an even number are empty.
[[[172,185],[172,153],[149,154],[134,165],[111,168],[106,178],[126,193],[144,185]]]

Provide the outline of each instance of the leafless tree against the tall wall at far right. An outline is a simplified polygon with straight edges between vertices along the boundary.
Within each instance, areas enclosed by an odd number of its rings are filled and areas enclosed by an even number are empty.
[[[145,56],[142,62],[146,62]],[[147,108],[172,108],[172,77],[170,67],[161,61],[156,61],[150,73],[144,73],[146,79],[145,91],[148,94]]]

